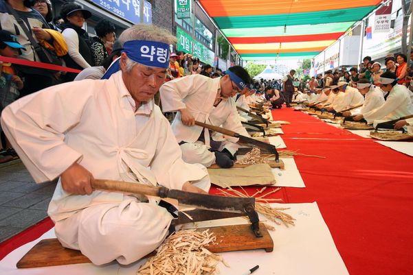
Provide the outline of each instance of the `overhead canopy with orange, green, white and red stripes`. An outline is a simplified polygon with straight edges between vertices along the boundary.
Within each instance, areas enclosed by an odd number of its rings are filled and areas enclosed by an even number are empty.
[[[383,0],[199,0],[243,60],[313,58]]]

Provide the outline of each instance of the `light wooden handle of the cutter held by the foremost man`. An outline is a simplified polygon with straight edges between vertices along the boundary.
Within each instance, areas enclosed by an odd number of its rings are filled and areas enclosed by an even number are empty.
[[[104,191],[153,195],[155,197],[159,197],[160,189],[160,187],[153,187],[135,182],[121,182],[119,180],[93,180],[91,185],[94,189]]]

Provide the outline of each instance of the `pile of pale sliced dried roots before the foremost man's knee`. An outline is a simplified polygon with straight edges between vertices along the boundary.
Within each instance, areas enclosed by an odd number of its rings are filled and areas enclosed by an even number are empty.
[[[227,264],[221,256],[205,248],[214,241],[214,234],[208,230],[179,230],[159,246],[155,256],[139,267],[137,275],[218,274],[216,265]]]

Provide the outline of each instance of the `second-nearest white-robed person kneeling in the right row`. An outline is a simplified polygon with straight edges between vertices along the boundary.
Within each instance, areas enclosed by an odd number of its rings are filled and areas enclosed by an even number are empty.
[[[378,108],[384,104],[384,97],[381,88],[371,84],[370,80],[361,78],[361,80],[357,83],[357,89],[361,95],[364,95],[364,104],[360,108],[343,112],[344,117],[365,114],[366,112],[370,112],[370,110]]]

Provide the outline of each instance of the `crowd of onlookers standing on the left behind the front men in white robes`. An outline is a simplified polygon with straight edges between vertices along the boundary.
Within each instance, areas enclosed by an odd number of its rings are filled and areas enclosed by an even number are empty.
[[[49,70],[0,61],[0,112],[16,99],[52,85],[82,80],[100,79],[122,46],[116,40],[116,28],[107,20],[94,27],[95,35],[83,28],[92,16],[73,1],[67,1],[58,18],[50,0],[0,0],[0,56],[43,62],[77,69],[80,73]],[[209,77],[221,74],[199,58],[178,51],[170,55],[166,81],[201,73]],[[0,163],[17,158],[1,131]],[[4,149],[1,149],[4,148]]]

